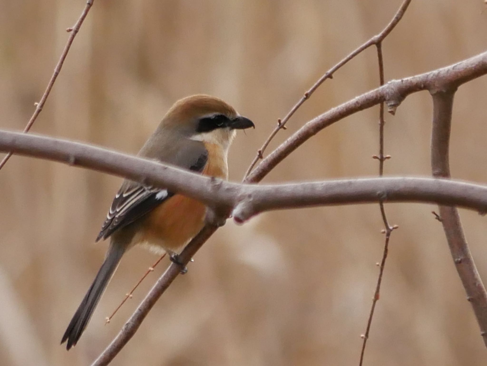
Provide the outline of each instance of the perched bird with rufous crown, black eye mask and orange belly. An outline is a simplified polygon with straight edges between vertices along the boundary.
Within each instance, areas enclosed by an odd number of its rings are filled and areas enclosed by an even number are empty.
[[[193,95],[175,102],[138,156],[192,172],[228,179],[227,155],[236,130],[255,128],[223,100]],[[203,228],[206,205],[160,187],[125,180],[113,199],[96,242],[110,244],[96,277],[71,319],[61,344],[78,342],[122,256],[142,244],[177,254]]]

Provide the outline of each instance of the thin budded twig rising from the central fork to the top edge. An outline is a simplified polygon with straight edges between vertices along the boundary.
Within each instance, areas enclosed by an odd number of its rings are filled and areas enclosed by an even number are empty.
[[[294,105],[294,107],[291,108],[291,110],[286,114],[286,116],[283,119],[277,120],[277,126],[274,128],[274,130],[271,132],[267,140],[263,143],[262,147],[257,151],[257,155],[250,163],[250,166],[247,169],[247,172],[244,175],[244,180],[245,178],[248,177],[252,169],[254,168],[255,164],[260,160],[263,159],[263,153],[271,140],[274,138],[274,136],[277,135],[279,130],[281,129],[286,129],[285,124],[289,119],[294,115],[294,113],[300,108],[300,106],[306,102],[311,95],[318,89],[318,87],[325,81],[326,79],[333,79],[333,74],[340,69],[343,65],[345,65],[348,61],[352,60],[355,58],[358,54],[360,54],[362,51],[366,50],[372,45],[378,45],[380,44],[388,35],[391,33],[391,31],[394,29],[394,27],[399,23],[399,21],[402,19],[404,13],[406,12],[406,9],[408,8],[411,0],[404,0],[404,2],[401,4],[397,12],[395,13],[393,19],[387,24],[387,26],[380,32],[379,34],[375,35],[372,37],[369,41],[366,41],[363,43],[360,47],[358,47],[355,51],[353,51],[351,54],[349,54],[347,57],[345,57],[343,60],[338,62],[335,66],[333,66],[330,70],[325,72],[321,78],[319,78],[318,81],[315,82],[315,84],[303,94],[301,99]],[[381,84],[382,85],[382,84]]]

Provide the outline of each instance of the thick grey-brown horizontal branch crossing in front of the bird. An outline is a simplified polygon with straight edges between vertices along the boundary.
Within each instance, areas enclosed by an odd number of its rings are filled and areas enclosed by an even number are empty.
[[[0,130],[0,151],[67,163],[167,187],[232,213],[243,223],[271,210],[383,202],[441,203],[487,212],[487,186],[432,178],[362,178],[291,184],[244,184],[79,142]]]

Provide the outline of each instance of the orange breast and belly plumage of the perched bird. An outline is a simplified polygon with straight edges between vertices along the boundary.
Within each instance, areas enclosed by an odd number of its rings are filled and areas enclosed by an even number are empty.
[[[225,153],[217,145],[205,143],[208,163],[204,175],[226,179],[228,169]],[[140,242],[179,251],[204,225],[206,205],[192,198],[176,194],[145,216]]]

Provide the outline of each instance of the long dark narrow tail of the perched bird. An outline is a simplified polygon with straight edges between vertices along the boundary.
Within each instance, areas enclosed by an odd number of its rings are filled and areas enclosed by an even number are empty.
[[[115,272],[124,252],[125,247],[123,245],[110,244],[107,255],[105,256],[105,261],[101,265],[93,284],[90,286],[90,289],[76,310],[73,319],[71,319],[66,332],[64,332],[64,335],[62,336],[61,344],[68,341],[66,349],[69,350],[72,346],[75,346],[79,337],[83,334],[83,331],[85,330],[86,325],[88,325],[94,309],[98,304],[98,301],[100,301],[101,295],[110,282],[113,272]]]

